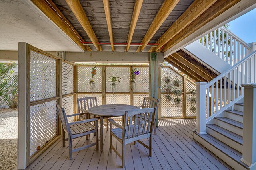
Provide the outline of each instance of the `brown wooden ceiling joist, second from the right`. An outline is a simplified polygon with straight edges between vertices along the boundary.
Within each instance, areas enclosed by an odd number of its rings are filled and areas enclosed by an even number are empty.
[[[170,28],[156,41],[157,47],[152,47],[148,52],[159,50],[165,43],[177,35],[188,24],[205,12],[217,0],[195,0],[188,9],[170,26]]]

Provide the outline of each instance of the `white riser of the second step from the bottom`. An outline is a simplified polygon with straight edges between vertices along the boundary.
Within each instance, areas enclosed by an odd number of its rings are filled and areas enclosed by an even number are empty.
[[[236,149],[237,151],[241,152],[243,151],[243,146],[240,145],[239,143],[229,139],[228,137],[210,129],[209,127],[206,127],[206,132],[210,135],[212,135],[213,137],[215,137],[216,139],[222,141],[223,143],[229,145],[230,147]]]

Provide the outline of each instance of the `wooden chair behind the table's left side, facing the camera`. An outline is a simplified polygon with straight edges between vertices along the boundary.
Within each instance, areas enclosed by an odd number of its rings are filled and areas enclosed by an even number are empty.
[[[80,115],[79,119],[91,119],[96,117],[95,115],[90,115],[87,113],[87,110],[90,109],[91,107],[98,106],[97,103],[97,97],[84,97],[84,98],[79,98],[77,99],[77,106],[78,106],[78,113],[86,113],[85,115]],[[107,131],[108,131],[108,119],[106,121]],[[87,139],[87,137],[86,137]]]

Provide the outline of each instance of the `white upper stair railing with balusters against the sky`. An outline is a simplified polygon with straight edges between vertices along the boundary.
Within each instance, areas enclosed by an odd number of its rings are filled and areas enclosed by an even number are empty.
[[[225,27],[220,27],[204,35],[198,39],[198,42],[231,66],[244,59],[248,49],[251,48]]]

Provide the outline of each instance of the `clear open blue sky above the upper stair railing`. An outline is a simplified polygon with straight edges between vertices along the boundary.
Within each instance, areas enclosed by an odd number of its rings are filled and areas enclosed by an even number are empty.
[[[256,8],[229,23],[230,31],[246,43],[256,42]]]

